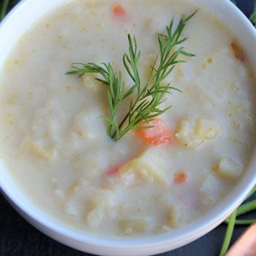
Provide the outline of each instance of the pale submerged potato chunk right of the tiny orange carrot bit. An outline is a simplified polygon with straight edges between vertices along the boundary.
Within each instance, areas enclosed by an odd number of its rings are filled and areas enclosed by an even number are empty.
[[[203,178],[202,185],[200,187],[200,196],[202,202],[206,205],[215,204],[219,200],[219,181],[217,177],[208,174],[205,178]]]

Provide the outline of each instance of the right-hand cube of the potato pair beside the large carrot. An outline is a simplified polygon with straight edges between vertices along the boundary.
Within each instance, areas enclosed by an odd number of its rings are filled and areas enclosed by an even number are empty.
[[[197,118],[195,132],[203,140],[214,140],[222,132],[222,127],[216,120]]]

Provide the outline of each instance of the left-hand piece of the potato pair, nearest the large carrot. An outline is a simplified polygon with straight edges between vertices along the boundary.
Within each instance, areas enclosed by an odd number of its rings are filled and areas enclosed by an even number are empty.
[[[186,118],[181,121],[176,133],[178,142],[187,148],[197,148],[203,144],[204,140],[197,136],[195,132],[195,120]]]

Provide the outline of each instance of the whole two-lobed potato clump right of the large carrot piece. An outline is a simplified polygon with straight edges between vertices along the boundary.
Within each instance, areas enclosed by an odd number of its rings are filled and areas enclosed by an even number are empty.
[[[187,148],[197,148],[207,140],[214,140],[222,129],[218,121],[208,118],[185,118],[176,133],[178,142]]]

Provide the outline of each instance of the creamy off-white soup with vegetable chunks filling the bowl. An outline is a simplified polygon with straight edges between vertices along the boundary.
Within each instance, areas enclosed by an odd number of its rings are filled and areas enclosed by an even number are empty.
[[[65,75],[70,64],[110,62],[127,91],[122,58],[135,35],[145,84],[156,72],[157,34],[195,10],[187,40],[173,48],[195,56],[178,57],[186,63],[162,81],[181,91],[163,96],[159,108],[172,107],[143,124],[151,128],[113,140],[102,118],[110,116],[106,86],[97,74]],[[255,80],[243,49],[189,1],[70,1],[20,38],[0,86],[2,162],[31,202],[83,233],[148,236],[194,222],[236,185],[254,146]]]

